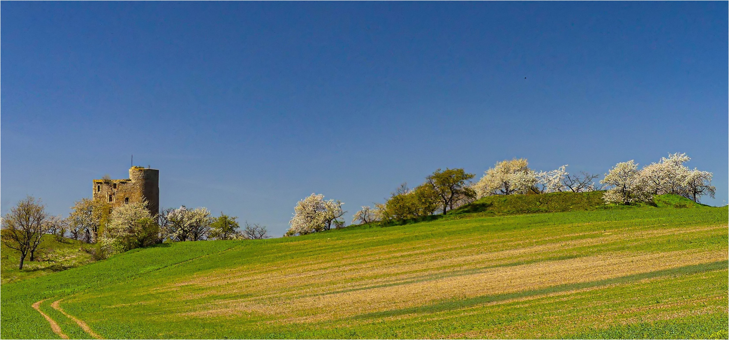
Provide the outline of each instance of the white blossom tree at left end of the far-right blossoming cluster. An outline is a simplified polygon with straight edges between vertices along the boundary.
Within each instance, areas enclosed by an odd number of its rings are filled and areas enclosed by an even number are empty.
[[[603,196],[606,203],[631,204],[652,198],[642,185],[638,164],[632,160],[617,163],[600,182],[610,187]]]

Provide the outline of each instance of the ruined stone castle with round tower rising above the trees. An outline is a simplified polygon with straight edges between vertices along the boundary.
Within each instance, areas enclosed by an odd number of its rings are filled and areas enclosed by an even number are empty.
[[[144,199],[152,216],[157,215],[160,211],[160,171],[132,166],[128,179],[94,179],[93,199],[106,202],[112,209]]]

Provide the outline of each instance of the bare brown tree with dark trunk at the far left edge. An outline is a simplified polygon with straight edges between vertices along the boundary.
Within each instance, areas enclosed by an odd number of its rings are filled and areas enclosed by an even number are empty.
[[[1,239],[6,247],[20,252],[20,269],[23,269],[28,254],[31,261],[35,260],[35,252],[47,232],[47,220],[45,206],[32,196],[18,202],[3,217]]]

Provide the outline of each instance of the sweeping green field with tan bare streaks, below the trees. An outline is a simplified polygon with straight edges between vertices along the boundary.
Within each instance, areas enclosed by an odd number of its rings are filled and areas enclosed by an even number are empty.
[[[60,300],[105,338],[727,339],[728,218],[585,209],[183,242],[3,285],[0,336],[57,339],[43,301],[90,339]]]

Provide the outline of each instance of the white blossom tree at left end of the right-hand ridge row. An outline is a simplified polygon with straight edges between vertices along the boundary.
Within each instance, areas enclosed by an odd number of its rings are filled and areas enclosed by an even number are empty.
[[[289,221],[291,228],[285,235],[305,235],[330,230],[332,223],[338,225],[338,218],[346,213],[342,210],[342,204],[335,200],[324,201],[324,195],[312,193],[297,202],[294,217]]]

